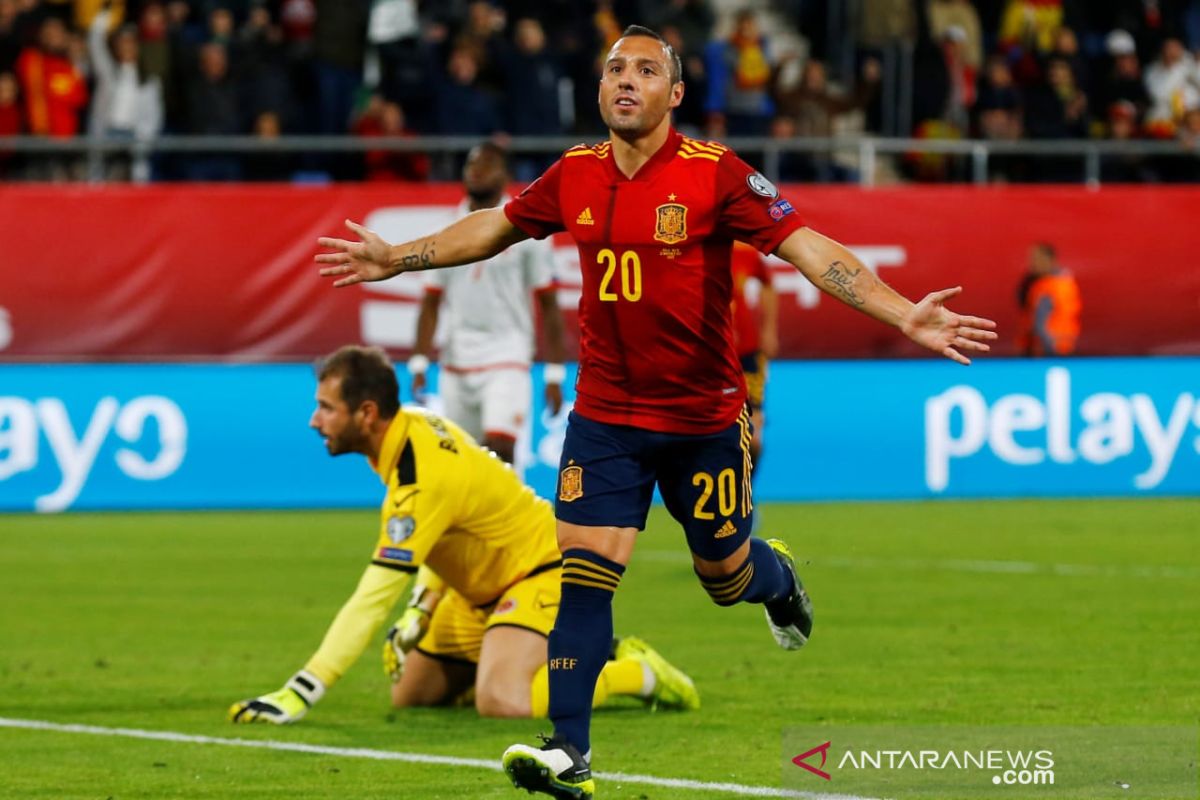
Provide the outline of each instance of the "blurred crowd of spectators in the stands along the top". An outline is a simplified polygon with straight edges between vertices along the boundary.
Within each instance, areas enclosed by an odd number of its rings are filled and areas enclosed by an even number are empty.
[[[0,136],[602,132],[599,59],[629,23],[683,56],[677,125],[694,136],[1200,140],[1200,0],[862,0],[841,20],[812,0],[0,0]],[[834,20],[835,23],[839,20]],[[886,131],[882,65],[912,64],[911,127]],[[846,64],[857,64],[846,70]],[[850,74],[853,73],[853,74]],[[1189,160],[1189,164],[1195,160]],[[1200,162],[1196,162],[1200,163]],[[1194,180],[1129,156],[1108,180]],[[528,179],[545,166],[517,164]],[[353,158],[190,155],[110,160],[104,178],[450,178],[456,166],[380,149]],[[944,160],[914,158],[940,179]],[[998,176],[1062,178],[996,160]],[[82,178],[79,163],[0,152],[0,175]],[[840,180],[830,160],[781,176]],[[95,176],[95,175],[94,175]]]

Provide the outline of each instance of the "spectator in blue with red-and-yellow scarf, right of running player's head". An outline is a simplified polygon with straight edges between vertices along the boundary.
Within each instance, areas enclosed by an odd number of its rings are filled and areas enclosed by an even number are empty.
[[[754,11],[738,12],[728,40],[708,44],[708,134],[764,136],[775,114],[770,98],[772,60]]]

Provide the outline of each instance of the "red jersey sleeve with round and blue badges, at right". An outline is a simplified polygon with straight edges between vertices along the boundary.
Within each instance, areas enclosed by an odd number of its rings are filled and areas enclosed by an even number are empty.
[[[716,203],[718,230],[762,253],[774,253],[780,242],[804,227],[775,185],[732,151],[716,164]]]

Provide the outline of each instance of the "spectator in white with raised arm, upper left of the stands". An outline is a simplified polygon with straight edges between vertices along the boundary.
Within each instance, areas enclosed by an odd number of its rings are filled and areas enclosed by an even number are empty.
[[[92,136],[120,139],[150,139],[162,130],[162,85],[148,78],[138,65],[137,29],[124,25],[108,36],[113,16],[108,10],[92,17],[88,32],[88,52],[95,79],[91,119]],[[127,156],[107,160],[94,179],[139,181],[150,179],[145,157],[131,163]]]

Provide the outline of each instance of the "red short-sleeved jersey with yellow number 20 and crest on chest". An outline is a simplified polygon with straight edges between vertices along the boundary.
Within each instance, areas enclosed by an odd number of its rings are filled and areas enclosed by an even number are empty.
[[[671,131],[634,178],[607,142],[571,148],[504,212],[536,239],[569,230],[580,248],[580,414],[665,433],[737,420],[733,240],[770,253],[804,225],[766,178]]]

